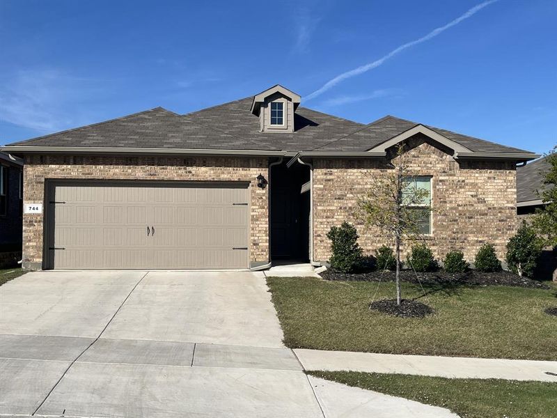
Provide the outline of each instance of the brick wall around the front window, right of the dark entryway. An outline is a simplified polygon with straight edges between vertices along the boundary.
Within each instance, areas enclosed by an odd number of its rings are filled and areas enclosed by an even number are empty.
[[[504,258],[505,245],[515,233],[516,180],[512,162],[456,162],[450,155],[413,139],[408,151],[409,170],[432,176],[432,236],[427,243],[442,258],[450,250],[464,251],[470,261],[485,242],[495,245]],[[344,220],[356,223],[360,245],[375,254],[380,245],[394,248],[377,229],[365,230],[355,221],[353,208],[358,196],[372,187],[371,178],[388,168],[378,160],[314,160],[313,210],[314,259],[327,261],[331,242],[327,232]],[[406,249],[405,249],[406,250]]]

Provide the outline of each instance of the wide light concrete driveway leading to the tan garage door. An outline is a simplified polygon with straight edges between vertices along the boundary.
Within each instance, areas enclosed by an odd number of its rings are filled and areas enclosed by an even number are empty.
[[[33,272],[0,309],[0,415],[453,416],[308,378],[262,273]]]

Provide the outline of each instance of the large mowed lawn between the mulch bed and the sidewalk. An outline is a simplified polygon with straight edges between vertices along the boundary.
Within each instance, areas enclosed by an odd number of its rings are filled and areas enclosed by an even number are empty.
[[[435,314],[396,318],[368,309],[393,298],[395,285],[269,277],[284,343],[290,348],[416,355],[557,360],[557,306],[551,290],[478,286],[440,288],[402,284],[405,298],[420,297]],[[377,291],[377,294],[375,292]]]

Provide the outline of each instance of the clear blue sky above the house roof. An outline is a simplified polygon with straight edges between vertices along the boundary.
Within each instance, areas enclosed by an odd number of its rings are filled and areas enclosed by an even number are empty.
[[[393,114],[544,153],[557,144],[557,2],[499,0],[462,18],[481,4],[2,0],[0,144],[278,83],[361,123]]]

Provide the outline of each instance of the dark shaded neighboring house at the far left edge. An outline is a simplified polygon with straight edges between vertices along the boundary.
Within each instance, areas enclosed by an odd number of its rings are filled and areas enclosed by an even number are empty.
[[[0,268],[22,257],[23,160],[0,153]]]

